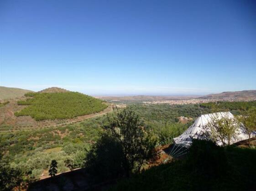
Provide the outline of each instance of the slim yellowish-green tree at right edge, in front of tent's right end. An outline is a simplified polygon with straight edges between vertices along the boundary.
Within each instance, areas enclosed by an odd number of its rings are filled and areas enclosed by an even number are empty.
[[[256,108],[253,107],[239,116],[238,120],[244,125],[247,135],[249,136],[248,145],[251,147],[251,133],[256,130]]]

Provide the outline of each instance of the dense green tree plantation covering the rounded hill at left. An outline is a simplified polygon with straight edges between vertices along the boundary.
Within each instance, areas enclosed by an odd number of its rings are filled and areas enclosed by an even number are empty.
[[[62,93],[27,93],[26,101],[18,105],[29,105],[16,112],[16,116],[31,116],[37,121],[67,119],[97,113],[107,108],[101,100],[78,92]]]

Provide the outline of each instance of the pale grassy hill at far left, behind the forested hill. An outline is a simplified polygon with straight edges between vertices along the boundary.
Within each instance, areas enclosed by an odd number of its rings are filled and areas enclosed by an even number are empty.
[[[33,91],[0,86],[0,100],[19,98],[28,92]]]

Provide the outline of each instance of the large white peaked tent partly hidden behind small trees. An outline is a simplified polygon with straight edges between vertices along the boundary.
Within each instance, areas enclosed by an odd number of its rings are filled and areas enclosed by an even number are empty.
[[[190,147],[192,144],[192,139],[206,139],[205,133],[209,132],[209,127],[207,126],[209,122],[213,121],[213,119],[220,119],[222,117],[228,117],[230,119],[234,119],[234,116],[230,112],[219,112],[213,114],[206,114],[200,116],[192,126],[190,126],[186,131],[183,132],[182,135],[173,138],[175,144],[183,147]],[[238,141],[242,141],[248,139],[249,136],[246,134],[246,131],[241,125],[238,129],[237,136],[232,139],[231,143],[235,143]],[[222,145],[221,141],[217,141],[218,145]]]

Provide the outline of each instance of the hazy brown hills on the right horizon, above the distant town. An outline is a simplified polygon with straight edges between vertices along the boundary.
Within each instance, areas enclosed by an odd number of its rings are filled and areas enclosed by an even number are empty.
[[[244,90],[244,91],[225,91],[220,94],[209,94],[201,99],[213,99],[213,100],[256,100],[256,90]]]

